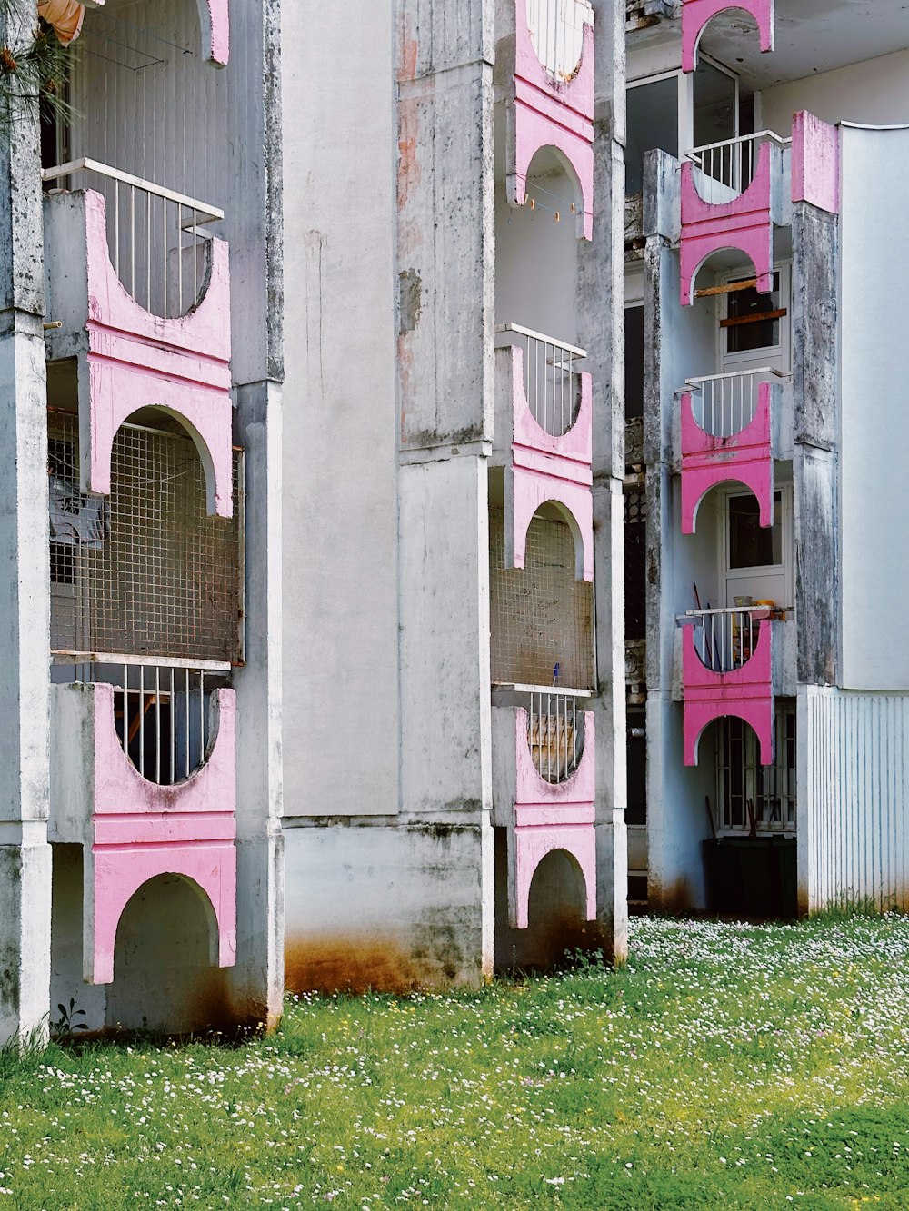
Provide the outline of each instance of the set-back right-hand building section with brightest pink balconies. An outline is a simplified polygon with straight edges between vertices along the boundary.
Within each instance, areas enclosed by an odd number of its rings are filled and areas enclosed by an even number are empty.
[[[905,907],[909,23],[627,18],[631,899]]]

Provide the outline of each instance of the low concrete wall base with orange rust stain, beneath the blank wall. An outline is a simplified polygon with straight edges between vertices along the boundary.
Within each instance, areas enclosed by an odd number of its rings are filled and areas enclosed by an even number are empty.
[[[491,951],[487,813],[448,823],[349,817],[286,827],[287,987],[476,985]]]

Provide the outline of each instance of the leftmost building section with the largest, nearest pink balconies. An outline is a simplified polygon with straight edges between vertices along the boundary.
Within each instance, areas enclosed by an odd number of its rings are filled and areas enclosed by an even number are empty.
[[[0,139],[0,1041],[282,995],[276,6],[85,7]]]

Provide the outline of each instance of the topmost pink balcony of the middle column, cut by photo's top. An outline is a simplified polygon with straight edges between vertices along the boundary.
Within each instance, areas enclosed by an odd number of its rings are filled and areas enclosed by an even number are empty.
[[[571,165],[583,205],[578,235],[593,235],[594,13],[588,0],[514,0],[508,115],[508,200],[526,200],[531,161],[553,147]],[[508,50],[504,51],[508,54]]]

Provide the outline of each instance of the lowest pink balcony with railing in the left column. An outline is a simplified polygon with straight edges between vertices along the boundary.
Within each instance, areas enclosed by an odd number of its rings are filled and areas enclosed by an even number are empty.
[[[114,978],[130,899],[176,874],[210,919],[211,962],[236,955],[234,691],[204,668],[104,668],[56,684],[51,707],[50,839],[84,850],[84,975]],[[206,684],[212,687],[206,689]]]

